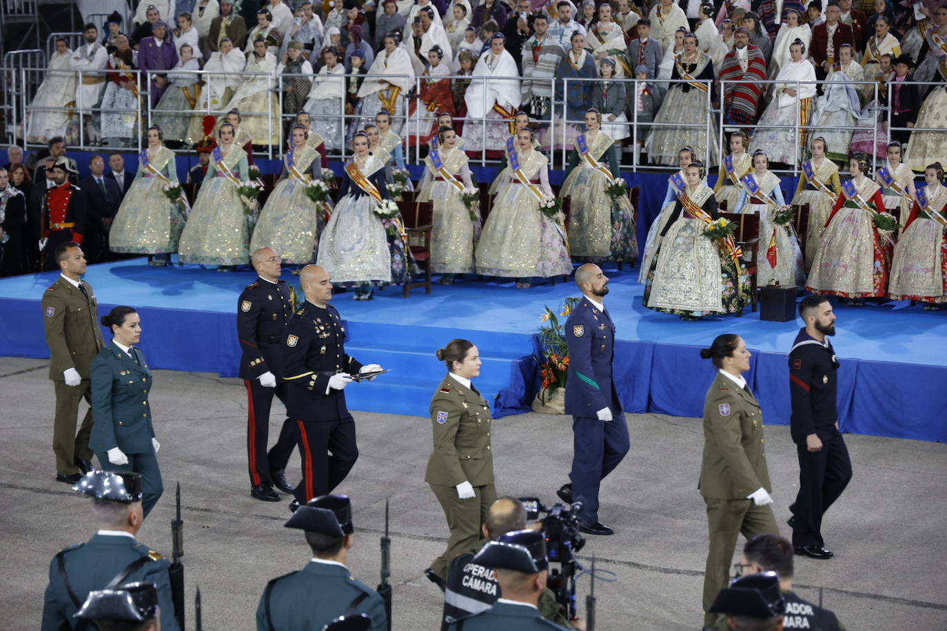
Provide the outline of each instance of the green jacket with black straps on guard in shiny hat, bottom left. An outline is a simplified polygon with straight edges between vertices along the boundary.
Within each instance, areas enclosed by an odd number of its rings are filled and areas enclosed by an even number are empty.
[[[80,603],[85,602],[90,591],[108,585],[118,572],[142,556],[151,557],[152,560],[135,570],[125,582],[153,583],[158,588],[161,628],[164,631],[178,631],[168,578],[170,564],[161,554],[150,550],[143,543],[138,543],[134,537],[125,535],[95,535],[88,543],[63,550],[69,586]],[[79,622],[72,617],[77,610],[78,607],[66,590],[59,562],[53,558],[49,564],[49,585],[46,586],[43,602],[42,631],[72,629]]]

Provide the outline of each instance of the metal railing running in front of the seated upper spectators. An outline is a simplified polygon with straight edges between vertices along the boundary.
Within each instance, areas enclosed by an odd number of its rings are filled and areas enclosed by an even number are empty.
[[[52,36],[50,36],[52,37]],[[36,90],[39,87],[40,83],[48,78],[49,70],[45,67],[45,52],[40,49],[27,50],[27,51],[14,51],[8,53],[4,57],[4,66],[0,68],[0,77],[2,77],[2,88],[4,97],[6,101],[0,105],[3,112],[6,115],[6,120],[8,123],[7,133],[9,138],[15,138],[17,142],[21,143],[24,149],[30,146],[27,143],[26,139],[26,126],[28,120],[28,114],[32,112],[41,112],[50,109],[58,110],[71,110],[79,111],[81,114],[121,114],[123,111],[116,109],[103,109],[99,106],[99,103],[85,103],[81,102],[83,99],[82,90],[77,90],[77,100],[74,103],[71,103],[63,108],[38,108],[32,104],[33,96],[35,96]],[[58,74],[72,72],[75,73],[77,78],[77,85],[81,84],[83,77],[96,76],[103,77],[109,73],[117,73],[119,71],[115,70],[57,70]],[[283,112],[284,110],[284,95],[286,90],[290,87],[289,82],[292,80],[298,79],[326,79],[326,75],[312,74],[312,75],[274,75],[266,73],[247,73],[247,72],[221,72],[221,71],[208,71],[208,70],[183,70],[183,69],[173,69],[170,71],[143,71],[143,70],[128,70],[121,71],[134,75],[135,82],[139,91],[138,98],[138,126],[136,131],[134,131],[134,144],[140,149],[143,137],[144,129],[152,124],[152,121],[155,116],[159,115],[188,115],[188,116],[202,116],[205,114],[211,114],[214,116],[221,116],[227,111],[232,109],[237,105],[234,101],[233,96],[228,99],[228,102],[218,102],[211,103],[208,98],[208,82],[214,82],[219,84],[221,81],[225,81],[227,77],[239,76],[241,83],[245,83],[249,80],[265,81],[265,87],[260,86],[260,91],[265,92],[268,95],[272,95],[268,99],[268,111],[266,112],[257,112],[257,111],[246,111],[241,110],[241,116],[246,119],[247,117],[258,118],[266,117],[266,129],[268,131],[267,138],[275,139],[275,142],[266,142],[260,143],[257,147],[257,153],[259,155],[265,155],[269,158],[279,157],[282,154],[283,148],[286,146],[286,131],[289,126],[295,120],[295,112]],[[151,81],[148,80],[152,75],[167,75],[172,73],[174,75],[194,75],[197,78],[201,79],[203,83],[203,89],[201,96],[197,102],[197,105],[194,109],[188,110],[171,110],[166,108],[159,107],[161,103],[151,105]],[[345,159],[350,154],[350,133],[348,128],[351,126],[353,121],[357,121],[357,127],[361,127],[361,123],[367,121],[366,114],[362,112],[354,112],[352,114],[346,114],[345,104],[346,104],[346,95],[348,93],[348,78],[350,75],[333,75],[331,79],[338,80],[343,84],[344,88],[342,90],[342,95],[339,97],[340,100],[340,109],[342,114],[328,114],[326,112],[320,111],[310,111],[309,114],[314,121],[319,120],[334,120],[339,121],[341,126],[342,141],[341,146],[336,148],[334,152],[338,152],[343,159]],[[364,78],[364,76],[362,76]],[[406,79],[403,76],[389,76],[390,79],[395,79],[400,77]],[[526,80],[521,77],[471,77],[467,75],[449,75],[446,77],[437,77],[434,80],[451,80],[452,82],[456,79],[468,80],[472,84],[477,81],[482,81],[489,86],[493,81],[499,80],[510,80],[510,81],[521,81]],[[415,158],[414,164],[420,164],[421,158],[421,147],[424,144],[422,139],[426,139],[430,135],[432,130],[433,123],[435,122],[435,114],[437,109],[429,110],[427,104],[421,99],[421,88],[423,84],[431,79],[425,77],[418,77],[414,79],[414,87],[411,92],[407,95],[400,95],[398,98],[399,107],[396,108],[396,111],[403,108],[403,112],[393,115],[393,123],[395,125],[400,125],[402,127],[402,138],[407,138],[409,141],[408,151],[405,152],[405,158],[408,157],[410,150],[414,149],[413,156]],[[534,79],[535,80],[535,79]],[[569,91],[569,85],[575,85],[577,82],[593,82],[598,83],[599,79],[546,79],[542,78],[541,80],[548,80],[552,84],[552,96],[550,97],[550,107],[547,114],[542,120],[536,120],[534,117],[532,119],[533,126],[538,126],[543,132],[543,138],[546,141],[544,143],[544,148],[548,147],[550,150],[550,155],[559,154],[561,155],[562,164],[565,165],[568,157],[568,152],[571,150],[570,143],[568,142],[569,132],[568,127],[574,128],[576,131],[581,131],[583,121],[573,120],[568,118],[567,112],[569,110],[569,104],[567,102],[567,95]],[[653,83],[653,80],[647,79],[614,79],[618,86],[618,89],[626,90],[626,94],[636,95],[637,88],[641,83]],[[673,87],[676,84],[681,83],[701,83],[708,87],[706,90],[706,99],[704,99],[705,107],[703,112],[694,113],[694,116],[687,122],[683,121],[674,121],[674,122],[659,122],[657,120],[657,113],[654,113],[652,120],[648,121],[639,121],[637,108],[634,107],[634,99],[626,107],[626,115],[628,115],[627,122],[619,121],[621,124],[627,124],[631,131],[631,140],[632,147],[636,151],[639,141],[642,140],[642,126],[646,127],[649,131],[655,131],[664,128],[680,129],[680,130],[693,130],[694,138],[699,137],[700,133],[706,131],[706,143],[704,143],[703,148],[699,148],[699,152],[702,152],[703,155],[709,156],[712,154],[714,147],[716,146],[718,150],[718,155],[722,156],[727,152],[727,148],[724,146],[724,133],[726,131],[732,131],[735,129],[740,129],[742,127],[751,127],[755,130],[766,130],[766,129],[786,129],[786,125],[767,125],[767,124],[754,124],[744,126],[741,124],[727,124],[725,122],[725,102],[724,102],[724,91],[727,85],[745,83],[745,81],[740,80],[730,80],[730,81],[718,81],[719,85],[716,86],[716,94],[714,94],[709,88],[711,81],[709,80],[700,80],[700,81],[688,81],[687,79],[667,79],[665,81],[671,87],[670,90],[674,90]],[[872,94],[875,98],[875,102],[879,101],[881,91],[879,89],[879,84],[874,81],[836,81],[840,85],[855,85],[859,87],[870,86]],[[108,78],[105,77],[105,83],[108,84]],[[756,81],[756,83],[764,85],[772,84],[795,84],[795,89],[798,92],[800,86],[806,84],[815,84],[822,85],[823,89],[825,86],[830,85],[830,82],[826,81],[778,81],[776,79],[768,79],[764,81]],[[921,86],[939,86],[943,87],[942,82],[937,81],[926,81],[926,82],[912,82],[912,85]],[[628,89],[628,86],[631,86],[631,89]],[[169,89],[175,89],[175,84],[171,83]],[[239,88],[238,88],[239,89]],[[699,89],[699,88],[694,88]],[[99,92],[99,94],[104,93],[104,88]],[[223,95],[223,89],[220,90],[221,95]],[[867,131],[871,130],[872,134],[872,146],[877,146],[878,140],[881,137],[880,134],[884,133],[880,129],[880,126],[883,124],[884,120],[887,121],[889,131],[943,131],[943,130],[925,130],[918,127],[915,128],[891,128],[891,99],[893,97],[893,91],[887,91],[886,98],[881,99],[884,101],[881,104],[879,112],[884,112],[884,116],[876,115],[871,121],[870,128],[867,125],[859,125],[857,127],[846,126],[846,127],[837,127],[833,126],[834,130],[841,131]],[[237,94],[237,91],[234,91],[234,95]],[[664,98],[668,98],[667,93]],[[864,91],[863,91],[864,94]],[[310,95],[312,96],[312,94]],[[713,107],[714,97],[717,97],[718,102],[721,103],[720,110]],[[378,96],[371,95],[366,96],[363,99],[363,108],[365,106],[365,101],[367,98],[377,98]],[[453,97],[453,94],[452,94]],[[308,100],[309,96],[307,96]],[[457,122],[463,122],[468,125],[477,125],[481,126],[481,129],[484,131],[481,137],[486,135],[487,127],[490,125],[496,124],[509,124],[508,118],[497,118],[491,117],[487,114],[491,112],[490,108],[487,107],[491,104],[491,97],[488,96],[487,90],[483,91],[483,102],[482,108],[485,112],[483,116],[472,117],[472,116],[455,116]],[[490,99],[490,100],[488,100]],[[813,96],[813,114],[815,112],[815,103],[817,102],[818,96]],[[274,106],[269,106],[270,103],[275,102]],[[412,112],[411,106],[415,104],[414,110]],[[590,106],[591,103],[582,103],[581,107],[584,110],[586,107]],[[604,113],[603,113],[604,114]],[[607,123],[608,121],[603,121]],[[795,139],[795,164],[792,165],[791,170],[780,171],[783,173],[791,173],[793,175],[798,175],[799,172],[799,162],[804,157],[806,147],[803,147],[800,143],[800,138],[803,137],[802,131],[811,132],[818,128],[818,121],[815,121],[813,117],[810,118],[808,124],[801,125],[799,124],[799,100],[796,99],[795,103],[795,123],[793,125],[793,137]],[[81,123],[81,120],[80,120]],[[471,128],[468,128],[471,129]],[[76,149],[91,149],[92,145],[88,144],[88,139],[86,138],[85,125],[79,125],[79,146],[76,147],[74,143],[70,143]],[[947,136],[947,131],[944,132]],[[467,135],[468,132],[464,131],[463,135]],[[808,134],[811,137],[811,133]],[[685,144],[693,145],[693,141]],[[488,158],[488,151],[493,150],[503,150],[504,147],[488,147],[486,142],[482,143],[480,147],[469,148],[477,149],[479,151],[479,158],[476,159],[480,165],[487,165],[491,162]],[[188,150],[188,149],[180,149]],[[872,151],[872,155],[875,156],[875,152]],[[877,162],[877,157],[875,157]],[[648,171],[648,170],[668,170],[668,166],[647,166],[638,164],[637,159],[635,159],[634,164],[632,165],[632,171]]]

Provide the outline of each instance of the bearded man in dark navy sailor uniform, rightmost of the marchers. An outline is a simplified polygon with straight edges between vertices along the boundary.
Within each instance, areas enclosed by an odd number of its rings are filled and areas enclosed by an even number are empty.
[[[822,538],[822,517],[851,480],[849,449],[838,429],[835,400],[838,358],[829,342],[835,314],[825,296],[799,303],[806,323],[789,352],[790,433],[799,457],[799,493],[789,507],[796,554],[831,558]]]

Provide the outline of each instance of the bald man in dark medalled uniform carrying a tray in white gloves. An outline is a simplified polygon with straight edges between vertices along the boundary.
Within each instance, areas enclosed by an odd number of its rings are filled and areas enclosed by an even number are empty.
[[[346,354],[346,327],[329,304],[329,272],[307,265],[299,272],[299,284],[306,302],[286,324],[283,346],[282,377],[290,386],[288,412],[298,429],[302,458],[302,482],[296,484],[291,509],[329,494],[348,476],[358,447],[355,420],[343,390],[353,375],[382,369],[377,363],[362,365]]]

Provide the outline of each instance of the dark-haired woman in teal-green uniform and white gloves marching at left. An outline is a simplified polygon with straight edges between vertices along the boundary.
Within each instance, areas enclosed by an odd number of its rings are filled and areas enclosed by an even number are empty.
[[[103,469],[141,474],[145,517],[164,491],[154,438],[148,391],[152,371],[141,349],[141,318],[132,307],[115,307],[102,316],[112,342],[92,360],[92,426],[90,443]]]

